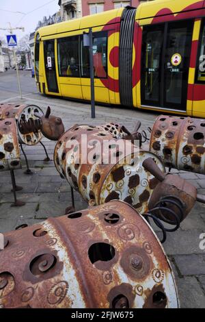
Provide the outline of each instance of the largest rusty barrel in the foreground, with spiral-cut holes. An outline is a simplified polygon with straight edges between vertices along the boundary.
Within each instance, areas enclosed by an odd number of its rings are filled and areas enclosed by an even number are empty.
[[[122,201],[5,234],[1,308],[178,308],[156,235]]]

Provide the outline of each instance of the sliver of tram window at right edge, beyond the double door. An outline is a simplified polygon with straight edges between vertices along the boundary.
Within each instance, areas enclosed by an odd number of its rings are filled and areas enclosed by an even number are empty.
[[[205,82],[205,21],[202,25],[201,30],[201,40],[197,66],[197,82]]]

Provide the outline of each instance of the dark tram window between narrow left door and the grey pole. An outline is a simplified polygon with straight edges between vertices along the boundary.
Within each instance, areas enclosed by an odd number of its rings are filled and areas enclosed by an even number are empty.
[[[57,40],[58,69],[61,77],[80,77],[79,37],[72,36]]]

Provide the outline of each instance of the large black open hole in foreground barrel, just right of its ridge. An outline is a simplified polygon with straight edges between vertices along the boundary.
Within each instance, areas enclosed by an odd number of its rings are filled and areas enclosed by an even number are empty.
[[[94,243],[88,249],[88,256],[92,264],[99,260],[101,262],[108,262],[115,257],[115,248],[107,243]]]

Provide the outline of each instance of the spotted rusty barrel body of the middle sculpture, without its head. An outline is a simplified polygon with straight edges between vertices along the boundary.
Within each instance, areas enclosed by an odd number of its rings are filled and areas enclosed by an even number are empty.
[[[91,205],[120,199],[140,213],[146,212],[150,195],[159,181],[143,168],[142,163],[146,158],[152,158],[164,172],[163,163],[149,151],[135,152],[131,141],[121,141],[126,142],[125,153],[118,149],[115,133],[92,125],[74,125],[59,138],[54,152],[55,166]],[[97,147],[100,153],[96,152]],[[83,161],[83,154],[90,156],[90,160],[85,158]],[[100,156],[106,156],[107,162]],[[111,158],[115,158],[115,162],[111,162]]]

